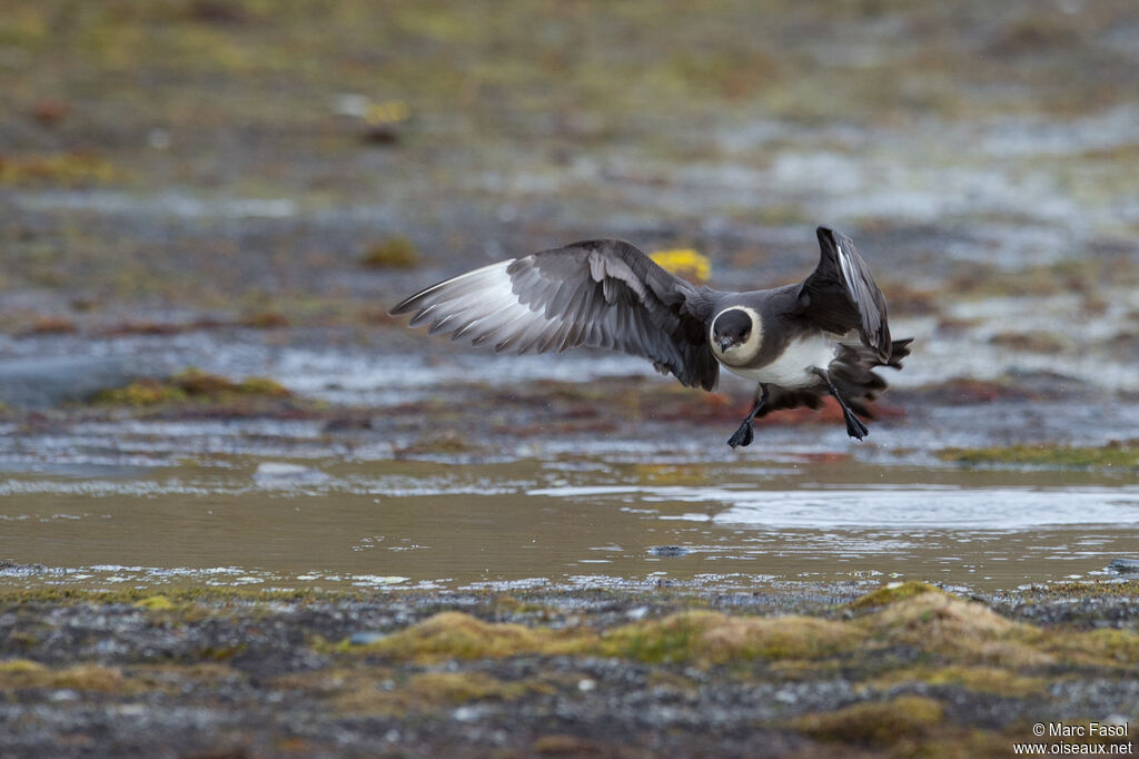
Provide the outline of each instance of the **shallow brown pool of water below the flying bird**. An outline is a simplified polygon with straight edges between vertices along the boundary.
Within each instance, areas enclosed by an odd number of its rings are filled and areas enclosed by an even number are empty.
[[[1080,472],[252,462],[0,491],[21,587],[994,588],[1101,573],[1139,537],[1139,485]]]

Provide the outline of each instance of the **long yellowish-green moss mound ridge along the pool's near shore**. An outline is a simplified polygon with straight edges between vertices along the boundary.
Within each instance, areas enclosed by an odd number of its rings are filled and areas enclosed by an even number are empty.
[[[924,583],[876,591],[855,602],[868,610],[850,621],[813,617],[732,617],[687,611],[661,620],[623,625],[598,635],[587,628],[554,631],[485,622],[443,612],[380,640],[361,646],[325,645],[326,653],[378,654],[399,660],[502,658],[517,654],[577,654],[647,663],[720,666],[771,662],[779,671],[810,677],[844,656],[870,654],[882,645],[921,652],[927,670],[911,672],[934,683],[982,688],[985,670],[1006,668],[1010,678],[993,679],[998,691],[1031,689],[1038,684],[1018,668],[1072,662],[1117,669],[1139,663],[1139,635],[1128,630],[1093,632],[1049,630],[1006,619],[985,604],[965,601]],[[898,591],[899,593],[893,593]],[[319,644],[318,644],[319,647]],[[887,671],[900,662],[885,662]],[[899,678],[900,675],[883,675]]]

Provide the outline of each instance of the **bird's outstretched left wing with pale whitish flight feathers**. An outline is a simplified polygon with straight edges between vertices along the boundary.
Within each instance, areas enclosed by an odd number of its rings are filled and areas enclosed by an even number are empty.
[[[715,387],[705,320],[713,291],[672,276],[616,239],[574,243],[492,263],[412,295],[393,315],[495,352],[587,345],[649,359],[690,387]]]

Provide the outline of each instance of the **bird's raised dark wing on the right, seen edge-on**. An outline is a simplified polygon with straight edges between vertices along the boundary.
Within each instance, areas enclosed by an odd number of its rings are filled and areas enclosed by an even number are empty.
[[[886,364],[891,353],[886,299],[869,267],[846,235],[827,227],[819,227],[816,234],[822,254],[818,268],[800,287],[800,312],[839,335],[858,329],[862,342]]]

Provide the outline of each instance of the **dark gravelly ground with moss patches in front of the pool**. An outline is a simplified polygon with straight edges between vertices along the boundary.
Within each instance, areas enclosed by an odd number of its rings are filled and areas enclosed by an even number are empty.
[[[1038,723],[1134,729],[1134,598],[6,591],[0,750],[1015,756]]]

